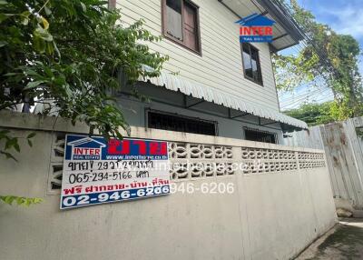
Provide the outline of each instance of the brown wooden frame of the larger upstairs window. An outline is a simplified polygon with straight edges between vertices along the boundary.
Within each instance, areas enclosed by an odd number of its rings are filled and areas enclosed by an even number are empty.
[[[188,49],[189,51],[193,52],[194,54],[201,55],[201,24],[199,20],[199,6],[195,5],[190,0],[181,0],[182,1],[182,34],[184,34],[184,2],[187,2],[189,5],[191,5],[196,10],[196,16],[197,16],[197,41],[198,41],[198,50],[193,50],[187,45],[184,44],[184,36],[183,40],[179,40],[175,37],[172,37],[172,35],[167,34],[167,25],[166,25],[166,0],[162,0],[162,35],[167,38],[168,40],[172,41],[173,43],[177,45],[181,45],[182,47]]]

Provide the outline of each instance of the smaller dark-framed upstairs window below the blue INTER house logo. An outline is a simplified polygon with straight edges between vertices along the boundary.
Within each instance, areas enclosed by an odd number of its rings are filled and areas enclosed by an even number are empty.
[[[241,49],[244,76],[257,84],[262,85],[259,50],[246,43],[242,44]]]

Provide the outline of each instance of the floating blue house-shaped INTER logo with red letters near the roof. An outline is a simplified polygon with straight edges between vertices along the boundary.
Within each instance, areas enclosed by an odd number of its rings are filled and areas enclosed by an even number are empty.
[[[266,16],[252,14],[241,18],[236,24],[240,25],[240,43],[271,43],[272,21]]]

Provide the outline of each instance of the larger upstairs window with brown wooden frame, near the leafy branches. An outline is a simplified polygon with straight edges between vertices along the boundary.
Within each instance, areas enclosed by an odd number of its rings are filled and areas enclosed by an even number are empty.
[[[191,1],[163,0],[162,31],[173,42],[201,54],[198,10]]]

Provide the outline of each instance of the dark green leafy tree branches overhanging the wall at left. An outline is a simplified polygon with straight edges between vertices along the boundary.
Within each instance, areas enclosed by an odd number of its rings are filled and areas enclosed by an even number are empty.
[[[125,85],[135,88],[142,77],[160,75],[168,57],[150,51],[148,43],[161,37],[145,30],[142,20],[124,26],[120,19],[119,11],[100,0],[0,5],[0,110],[47,103],[44,115],[56,106],[73,123],[121,137],[121,128],[129,127],[112,95]]]

